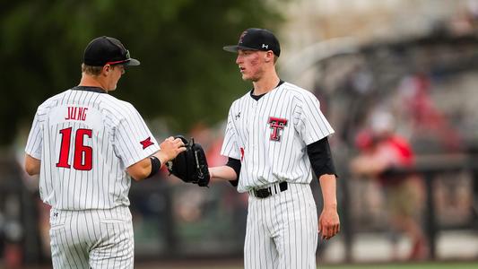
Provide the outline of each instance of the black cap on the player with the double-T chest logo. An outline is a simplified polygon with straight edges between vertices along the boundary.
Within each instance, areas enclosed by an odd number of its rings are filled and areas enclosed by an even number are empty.
[[[222,49],[237,52],[238,49],[272,50],[275,56],[281,55],[281,45],[270,30],[249,28],[242,32],[238,45],[225,46]]]

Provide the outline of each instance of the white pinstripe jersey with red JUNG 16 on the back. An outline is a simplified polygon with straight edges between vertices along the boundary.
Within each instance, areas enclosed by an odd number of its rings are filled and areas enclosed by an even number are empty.
[[[130,103],[99,90],[59,93],[33,120],[25,152],[41,160],[39,193],[56,209],[129,205],[125,169],[160,149]]]

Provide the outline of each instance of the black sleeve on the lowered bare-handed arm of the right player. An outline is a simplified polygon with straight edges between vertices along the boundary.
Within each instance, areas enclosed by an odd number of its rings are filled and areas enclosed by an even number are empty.
[[[309,144],[307,146],[307,154],[317,178],[325,174],[335,175],[336,177],[334,161],[332,160],[327,137]]]

